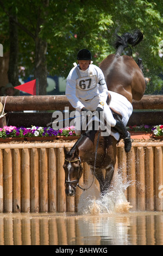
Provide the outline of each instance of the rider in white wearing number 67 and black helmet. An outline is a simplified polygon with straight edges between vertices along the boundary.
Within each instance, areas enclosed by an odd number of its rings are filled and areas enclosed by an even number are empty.
[[[130,133],[123,125],[122,121],[114,119],[110,107],[106,103],[108,98],[108,88],[106,86],[104,74],[98,66],[93,65],[91,52],[82,49],[77,54],[78,65],[74,63],[74,68],[67,77],[66,96],[76,111],[89,112],[97,111],[104,113],[104,119],[120,132],[124,139],[126,152],[131,149]],[[77,123],[77,120],[76,120]],[[76,127],[76,133],[81,134],[81,130]]]

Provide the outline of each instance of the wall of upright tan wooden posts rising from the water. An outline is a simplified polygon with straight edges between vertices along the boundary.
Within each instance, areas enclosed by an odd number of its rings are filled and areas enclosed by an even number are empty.
[[[75,212],[80,195],[65,195],[64,147],[71,143],[0,144],[0,212]],[[117,146],[116,169],[133,210],[163,211],[163,143],[133,143],[126,154]],[[80,185],[92,181],[89,166],[83,164]],[[97,180],[94,186],[99,188]]]

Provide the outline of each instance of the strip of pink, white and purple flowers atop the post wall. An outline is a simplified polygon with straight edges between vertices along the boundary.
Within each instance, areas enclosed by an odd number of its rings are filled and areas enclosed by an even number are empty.
[[[154,138],[163,139],[163,125],[149,126],[129,126],[128,131],[131,134],[131,138]],[[39,127],[32,126],[31,128],[16,127],[16,126],[4,126],[0,128],[0,141],[38,141],[38,140],[54,140],[54,139],[78,139],[74,131],[74,126],[65,127],[63,129],[54,130],[51,127]]]

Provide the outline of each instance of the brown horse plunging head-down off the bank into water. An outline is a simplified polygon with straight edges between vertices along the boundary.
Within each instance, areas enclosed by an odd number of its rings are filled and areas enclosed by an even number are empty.
[[[104,73],[108,90],[123,95],[129,102],[133,99],[141,100],[146,89],[146,81],[142,72],[142,60],[139,59],[136,63],[132,56],[122,55],[122,52],[130,45],[139,44],[142,39],[143,34],[140,31],[121,36],[116,34],[116,53],[110,54],[99,65]],[[115,118],[120,118],[120,115],[116,114]],[[73,197],[77,186],[82,188],[79,179],[83,173],[83,162],[89,164],[93,177],[99,182],[101,194],[109,190],[115,174],[116,144],[117,140],[113,136],[101,136],[99,129],[87,130],[83,133],[70,151],[64,148],[66,196]]]

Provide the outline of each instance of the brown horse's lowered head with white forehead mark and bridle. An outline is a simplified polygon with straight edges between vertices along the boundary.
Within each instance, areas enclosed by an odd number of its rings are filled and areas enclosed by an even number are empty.
[[[75,151],[67,151],[64,148],[65,152],[65,192],[69,197],[74,197],[76,194],[76,188],[79,183],[79,179],[82,176],[83,168],[82,162],[79,157],[79,150],[76,147]]]

